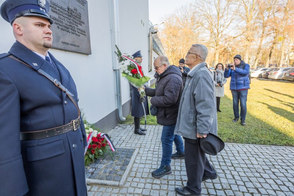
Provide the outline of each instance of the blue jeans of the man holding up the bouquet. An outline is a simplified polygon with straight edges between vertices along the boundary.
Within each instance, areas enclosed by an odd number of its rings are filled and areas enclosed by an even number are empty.
[[[161,165],[170,166],[171,155],[173,153],[173,142],[175,142],[176,150],[178,153],[184,153],[183,140],[180,135],[175,135],[176,125],[163,126],[161,133],[162,145],[162,159]]]

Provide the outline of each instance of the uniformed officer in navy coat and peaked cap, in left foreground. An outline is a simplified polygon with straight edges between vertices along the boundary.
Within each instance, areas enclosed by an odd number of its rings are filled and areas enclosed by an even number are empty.
[[[69,71],[52,46],[46,0],[7,0],[16,42],[0,55],[0,195],[85,196],[86,133]]]

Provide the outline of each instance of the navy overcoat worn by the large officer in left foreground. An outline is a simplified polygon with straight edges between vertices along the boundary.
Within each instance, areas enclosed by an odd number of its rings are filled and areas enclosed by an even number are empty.
[[[20,132],[51,129],[78,118],[78,109],[66,93],[36,71],[41,68],[61,81],[78,100],[69,71],[49,56],[57,69],[19,42],[0,55],[1,196],[86,195],[83,123],[76,131],[20,140]]]

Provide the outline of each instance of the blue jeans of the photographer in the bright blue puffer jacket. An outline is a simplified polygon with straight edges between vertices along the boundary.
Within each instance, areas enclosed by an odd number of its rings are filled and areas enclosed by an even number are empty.
[[[231,90],[232,96],[233,96],[233,110],[234,110],[234,116],[235,117],[241,117],[241,120],[245,120],[246,118],[246,112],[247,112],[247,94],[248,89],[242,90],[242,91],[235,91]],[[240,100],[240,116],[239,116],[239,100]]]

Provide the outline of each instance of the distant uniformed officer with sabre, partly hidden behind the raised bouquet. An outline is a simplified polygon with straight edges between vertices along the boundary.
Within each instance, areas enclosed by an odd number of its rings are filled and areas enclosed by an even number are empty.
[[[132,55],[137,61],[142,63],[142,55],[141,51],[137,51]],[[133,87],[133,86],[132,86]],[[143,128],[140,128],[140,117],[144,116],[144,110],[142,106],[142,102],[144,103],[145,112],[146,115],[149,114],[148,109],[148,99],[147,96],[140,98],[140,93],[137,88],[133,87],[133,93],[132,93],[132,113],[131,116],[134,117],[134,124],[135,124],[135,130],[134,133],[138,135],[146,135],[146,130]]]

